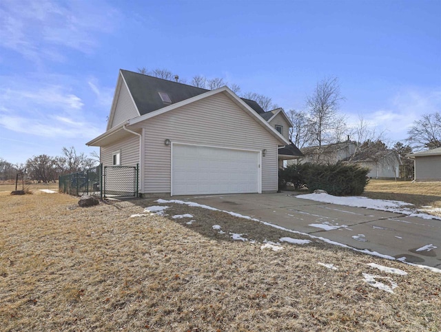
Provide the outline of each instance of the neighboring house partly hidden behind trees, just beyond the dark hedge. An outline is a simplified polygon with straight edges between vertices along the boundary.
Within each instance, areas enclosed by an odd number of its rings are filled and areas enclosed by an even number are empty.
[[[376,153],[357,152],[344,160],[370,169],[369,178],[399,178],[401,158],[395,150],[387,149]]]

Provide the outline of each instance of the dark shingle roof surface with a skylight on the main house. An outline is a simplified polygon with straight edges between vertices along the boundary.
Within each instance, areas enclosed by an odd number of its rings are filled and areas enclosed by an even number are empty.
[[[170,103],[164,103],[159,95],[159,92],[167,94],[172,104],[180,101],[185,101],[199,94],[208,92],[207,89],[201,87],[194,87],[183,83],[168,81],[165,79],[158,79],[157,77],[130,72],[128,70],[121,70],[127,87],[138,107],[141,115],[159,110]],[[242,100],[249,105],[256,113],[265,113],[265,111],[256,103],[249,99],[242,98]]]

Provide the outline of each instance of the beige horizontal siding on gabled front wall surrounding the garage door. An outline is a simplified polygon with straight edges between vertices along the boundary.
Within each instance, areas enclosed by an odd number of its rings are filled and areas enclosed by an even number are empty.
[[[216,94],[136,125],[145,128],[145,193],[170,193],[171,146],[175,143],[267,149],[262,157],[262,191],[278,186],[278,140],[224,94]]]

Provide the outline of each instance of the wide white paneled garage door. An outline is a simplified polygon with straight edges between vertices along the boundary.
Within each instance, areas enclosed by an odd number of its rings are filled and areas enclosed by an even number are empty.
[[[172,195],[256,193],[259,153],[174,144]]]

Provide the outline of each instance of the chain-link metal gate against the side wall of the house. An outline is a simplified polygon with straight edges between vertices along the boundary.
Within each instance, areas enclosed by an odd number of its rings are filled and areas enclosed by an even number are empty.
[[[138,197],[139,165],[105,166],[103,169],[103,196],[105,198]]]

